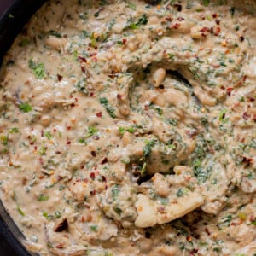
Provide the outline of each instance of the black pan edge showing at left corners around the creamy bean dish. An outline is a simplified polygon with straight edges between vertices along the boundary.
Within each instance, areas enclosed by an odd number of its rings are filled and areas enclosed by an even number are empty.
[[[30,19],[32,14],[44,3],[45,0],[0,0],[3,7],[9,6],[0,18],[0,66],[3,55],[10,48],[16,35],[22,31],[22,27]],[[20,230],[15,225],[9,213],[5,211],[2,201],[0,201],[0,234],[3,239],[13,248],[15,255],[11,256],[31,256],[38,255],[28,253],[26,248],[20,243],[24,239]],[[0,255],[6,256],[3,248]]]

